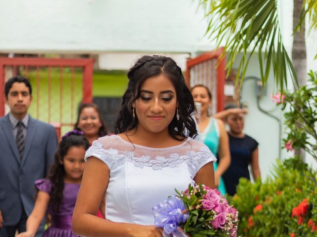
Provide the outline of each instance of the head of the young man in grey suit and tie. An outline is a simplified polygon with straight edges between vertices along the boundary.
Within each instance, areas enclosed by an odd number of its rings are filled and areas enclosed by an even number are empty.
[[[15,118],[23,119],[32,102],[30,82],[21,76],[8,79],[4,85],[4,102],[9,106],[10,113]]]

